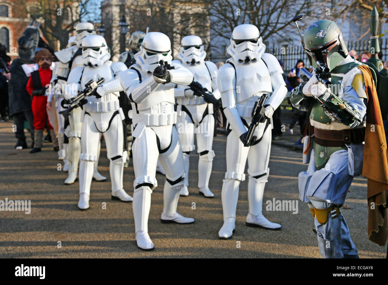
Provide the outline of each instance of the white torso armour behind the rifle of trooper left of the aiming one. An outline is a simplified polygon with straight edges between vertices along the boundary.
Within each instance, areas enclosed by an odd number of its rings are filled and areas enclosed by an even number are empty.
[[[97,80],[104,78],[105,82],[114,80],[114,74],[111,69],[110,61],[107,61],[101,67],[89,67],[85,66],[81,78],[81,90],[85,88],[85,84],[90,80]],[[101,98],[95,96],[88,97],[88,103],[83,106],[83,109],[87,112],[110,112],[116,111],[120,108],[118,100],[119,92],[106,93]]]

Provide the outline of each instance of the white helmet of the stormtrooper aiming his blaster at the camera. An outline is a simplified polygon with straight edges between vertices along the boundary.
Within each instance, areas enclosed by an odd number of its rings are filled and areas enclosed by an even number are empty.
[[[168,36],[159,32],[150,32],[145,35],[140,51],[135,54],[136,63],[143,71],[151,74],[163,60],[171,64],[171,42]]]

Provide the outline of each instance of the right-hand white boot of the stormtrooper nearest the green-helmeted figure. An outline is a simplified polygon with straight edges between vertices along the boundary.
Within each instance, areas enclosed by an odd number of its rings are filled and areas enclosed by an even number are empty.
[[[263,207],[263,194],[265,183],[268,181],[269,169],[265,176],[260,178],[253,178],[249,176],[248,181],[248,203],[249,212],[246,216],[246,225],[259,228],[265,228],[267,230],[280,230],[281,225],[268,221],[262,213]]]

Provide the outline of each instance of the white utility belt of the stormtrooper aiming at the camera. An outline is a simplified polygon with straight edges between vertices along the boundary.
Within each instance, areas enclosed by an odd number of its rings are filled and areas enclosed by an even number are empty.
[[[130,110],[128,116],[132,117],[133,124],[144,124],[145,126],[168,126],[177,123],[177,112],[170,114],[137,114],[136,111]]]

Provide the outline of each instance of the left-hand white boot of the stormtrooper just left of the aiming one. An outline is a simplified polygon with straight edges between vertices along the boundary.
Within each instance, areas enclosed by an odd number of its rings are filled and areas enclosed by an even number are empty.
[[[92,184],[94,158],[87,154],[81,154],[80,161],[80,200],[78,208],[89,209],[90,185]]]

